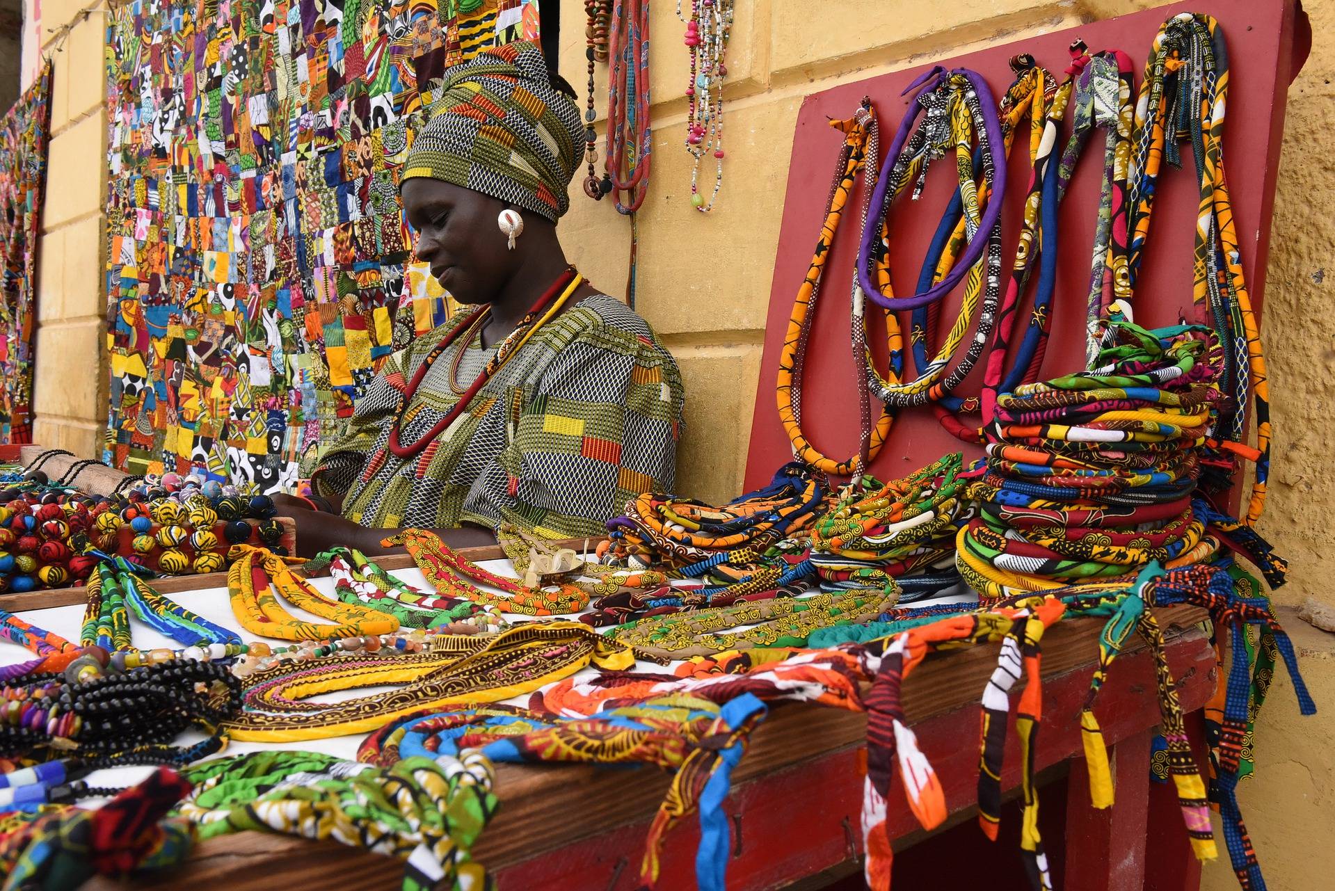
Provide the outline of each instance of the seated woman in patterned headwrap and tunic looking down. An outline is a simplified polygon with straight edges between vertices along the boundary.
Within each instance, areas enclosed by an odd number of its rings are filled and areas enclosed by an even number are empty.
[[[446,72],[400,195],[417,256],[470,311],[391,356],[324,450],[314,498],[280,499],[302,554],[382,552],[398,527],[453,547],[494,543],[501,523],[598,535],[634,495],[672,488],[677,364],[557,239],[583,139],[533,44]]]

